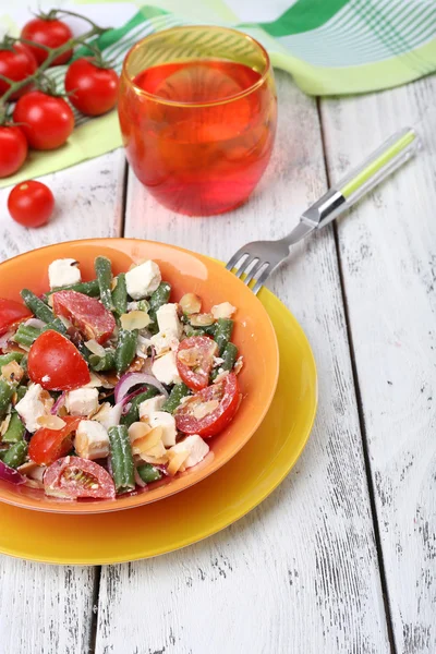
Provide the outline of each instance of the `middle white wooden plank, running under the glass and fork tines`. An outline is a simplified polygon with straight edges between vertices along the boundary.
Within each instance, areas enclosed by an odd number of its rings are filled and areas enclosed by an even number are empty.
[[[185,218],[158,207],[131,175],[126,235],[228,258],[246,241],[290,231],[326,182],[316,105],[289,76],[277,77],[277,149],[251,202]],[[179,553],[105,567],[100,654],[388,651],[330,229],[295,247],[270,286],[303,324],[318,364],[308,446],[280,488],[228,530]]]

